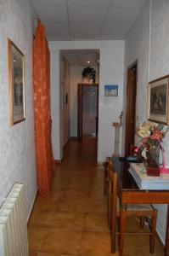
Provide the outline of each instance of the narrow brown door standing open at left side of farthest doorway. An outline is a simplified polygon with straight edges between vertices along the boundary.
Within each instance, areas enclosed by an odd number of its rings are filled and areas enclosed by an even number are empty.
[[[82,142],[82,84],[77,84],[77,138]]]

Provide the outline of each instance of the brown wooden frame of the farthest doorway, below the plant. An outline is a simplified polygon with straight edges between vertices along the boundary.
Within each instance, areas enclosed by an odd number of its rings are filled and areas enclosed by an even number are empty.
[[[82,142],[82,88],[85,86],[94,86],[98,88],[98,97],[97,97],[97,117],[96,120],[96,132],[98,131],[99,124],[99,84],[77,84],[77,139]]]

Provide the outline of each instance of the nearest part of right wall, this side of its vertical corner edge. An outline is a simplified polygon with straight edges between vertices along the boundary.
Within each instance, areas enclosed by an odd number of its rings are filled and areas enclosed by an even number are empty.
[[[151,1],[149,81],[169,74],[169,1]],[[166,165],[169,167],[169,134],[164,139]],[[157,206],[157,228],[164,240],[166,230],[166,206]]]

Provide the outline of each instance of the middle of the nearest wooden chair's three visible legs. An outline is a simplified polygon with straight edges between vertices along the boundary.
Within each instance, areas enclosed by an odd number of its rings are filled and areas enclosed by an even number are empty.
[[[121,209],[121,215],[120,215],[120,237],[119,237],[119,256],[122,256],[122,253],[123,253],[126,221],[127,221],[127,211],[125,209]]]

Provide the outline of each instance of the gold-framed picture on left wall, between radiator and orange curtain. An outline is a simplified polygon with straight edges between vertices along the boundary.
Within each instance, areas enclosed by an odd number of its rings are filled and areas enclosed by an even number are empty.
[[[8,84],[10,124],[25,120],[24,55],[8,39]]]

